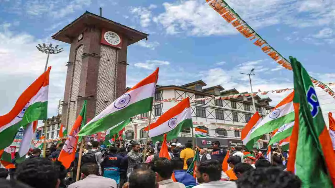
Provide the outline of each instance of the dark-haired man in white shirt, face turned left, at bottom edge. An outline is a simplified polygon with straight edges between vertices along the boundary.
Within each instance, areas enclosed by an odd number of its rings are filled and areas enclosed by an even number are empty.
[[[217,160],[200,161],[195,172],[200,185],[193,188],[237,188],[235,182],[221,181],[221,164]]]

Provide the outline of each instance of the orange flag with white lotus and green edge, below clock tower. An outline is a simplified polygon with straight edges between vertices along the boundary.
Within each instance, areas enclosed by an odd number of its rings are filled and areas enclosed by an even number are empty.
[[[79,139],[78,132],[80,130],[80,127],[84,125],[85,121],[86,121],[86,100],[84,101],[83,107],[81,108],[80,113],[76,121],[74,122],[72,130],[65,141],[63,149],[61,150],[61,153],[58,156],[58,161],[60,161],[66,169],[70,167],[72,161],[74,160]]]

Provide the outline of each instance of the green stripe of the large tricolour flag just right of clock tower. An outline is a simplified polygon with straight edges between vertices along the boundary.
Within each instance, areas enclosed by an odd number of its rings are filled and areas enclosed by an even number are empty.
[[[129,106],[106,115],[105,117],[98,119],[97,121],[91,122],[85,125],[80,131],[80,136],[95,134],[100,131],[104,131],[111,126],[120,123],[123,120],[133,117],[141,113],[145,113],[151,110],[153,97],[149,97],[140,100],[136,103],[130,104]]]

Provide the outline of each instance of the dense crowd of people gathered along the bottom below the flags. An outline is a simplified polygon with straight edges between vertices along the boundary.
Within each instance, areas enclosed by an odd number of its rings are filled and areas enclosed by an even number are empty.
[[[0,169],[0,187],[15,188],[298,188],[301,181],[285,171],[287,154],[278,150],[272,153],[272,161],[257,149],[229,148],[226,160],[230,169],[223,171],[222,163],[227,149],[220,142],[212,142],[212,148],[200,149],[199,161],[193,175],[187,171],[192,165],[195,148],[191,140],[184,145],[174,139],[169,143],[170,159],[159,157],[161,142],[143,143],[117,141],[105,147],[102,142],[90,139],[85,143],[81,157],[80,173],[76,180],[79,150],[69,169],[57,160],[66,140],[52,145],[45,151],[29,151],[26,160],[15,169]],[[286,157],[286,158],[285,158]]]

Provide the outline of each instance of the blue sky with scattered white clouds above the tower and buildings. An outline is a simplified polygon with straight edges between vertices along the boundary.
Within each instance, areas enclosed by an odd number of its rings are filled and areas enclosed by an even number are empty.
[[[335,82],[333,0],[227,0],[237,13],[284,57],[296,57],[324,83]],[[207,86],[250,91],[239,72],[255,68],[254,90],[293,86],[292,72],[278,67],[249,39],[226,23],[205,0],[0,0],[0,114],[40,75],[46,55],[35,45],[52,42],[65,51],[50,58],[49,115],[63,98],[69,45],[51,35],[84,11],[150,34],[128,48],[127,86],[160,67],[159,84],[204,80]],[[284,94],[270,94],[276,105]],[[324,113],[334,99],[320,92]]]

